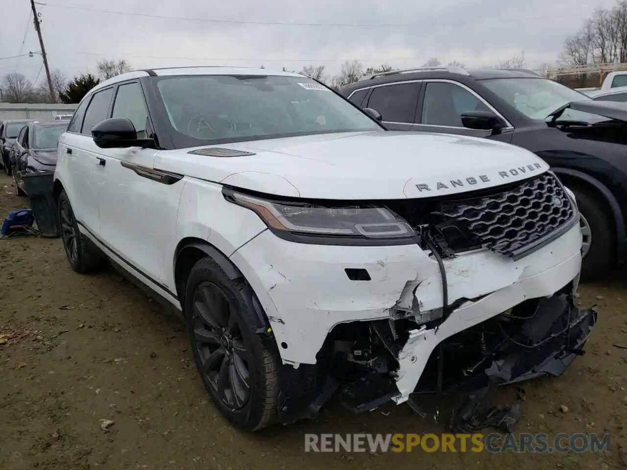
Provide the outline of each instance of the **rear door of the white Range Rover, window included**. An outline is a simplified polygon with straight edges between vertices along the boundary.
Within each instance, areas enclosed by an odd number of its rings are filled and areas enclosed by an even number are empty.
[[[93,142],[92,128],[110,115],[112,99],[113,87],[93,93],[86,104],[85,114],[78,116],[76,113],[77,119],[68,127],[68,132],[63,133],[59,144],[59,161],[66,167],[58,174],[68,174],[68,179],[61,182],[70,198],[76,221],[92,236],[100,233],[98,198],[104,181],[103,150]]]

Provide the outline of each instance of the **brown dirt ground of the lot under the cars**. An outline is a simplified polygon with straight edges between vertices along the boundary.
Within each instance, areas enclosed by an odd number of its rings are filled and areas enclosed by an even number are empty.
[[[0,220],[28,207],[0,175]],[[527,382],[519,432],[611,434],[586,454],[307,453],[314,433],[446,432],[389,405],[235,431],[216,412],[176,317],[115,271],[73,273],[58,239],[0,239],[0,469],[619,469],[627,466],[627,273],[584,285],[599,324],[559,379]],[[566,405],[567,412],[560,410]],[[107,432],[102,420],[112,420]],[[622,449],[621,449],[622,446]]]

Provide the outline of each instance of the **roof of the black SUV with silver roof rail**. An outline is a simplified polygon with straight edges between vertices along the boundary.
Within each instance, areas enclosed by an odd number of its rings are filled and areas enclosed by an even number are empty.
[[[404,71],[403,73],[389,73],[387,75],[374,76],[374,78],[356,81],[350,85],[342,86],[342,90],[351,91],[357,88],[367,88],[382,83],[406,80],[428,80],[429,78],[455,78],[456,80],[488,80],[490,78],[544,78],[532,70],[525,69],[493,69],[477,68],[463,69],[458,67],[424,68],[416,71]]]

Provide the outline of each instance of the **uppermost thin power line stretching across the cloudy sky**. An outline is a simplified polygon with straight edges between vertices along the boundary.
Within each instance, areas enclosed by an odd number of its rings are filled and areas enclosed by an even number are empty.
[[[115,11],[115,10],[107,10],[102,8],[92,8],[86,6],[76,6],[76,5],[60,5],[54,3],[41,3],[42,5],[51,7],[51,8],[64,8],[64,9],[72,9],[72,10],[81,10],[81,11],[93,11],[95,13],[108,13],[108,14],[120,14],[125,16],[137,16],[140,18],[156,18],[156,19],[179,19],[184,21],[196,21],[199,23],[225,23],[225,24],[258,24],[258,25],[267,25],[267,26],[344,26],[344,27],[354,27],[354,28],[383,28],[383,27],[393,27],[393,28],[407,28],[407,27],[423,27],[423,24],[417,23],[290,23],[286,21],[246,21],[246,20],[237,20],[237,19],[209,19],[209,18],[189,18],[187,16],[169,16],[169,15],[159,15],[159,14],[147,14],[147,13],[134,13],[130,11]],[[576,13],[566,13],[562,16],[576,16]],[[577,14],[579,16],[579,14]],[[521,21],[521,20],[534,20],[534,19],[546,19],[546,16],[534,16],[534,17],[521,17],[516,16],[515,18],[500,18],[499,23],[507,23],[509,21]],[[455,26],[460,26],[462,24],[469,23],[477,23],[476,20],[468,20],[463,21],[462,23],[455,23]]]

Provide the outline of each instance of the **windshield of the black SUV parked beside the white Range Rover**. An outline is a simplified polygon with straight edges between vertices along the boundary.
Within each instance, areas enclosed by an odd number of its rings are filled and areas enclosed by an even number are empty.
[[[493,78],[482,80],[492,93],[498,95],[507,103],[515,107],[525,116],[544,121],[549,114],[574,101],[586,101],[592,98],[561,85],[557,81],[545,78]],[[600,122],[607,118],[596,114],[581,111],[566,110],[561,120],[577,120],[586,122]]]

